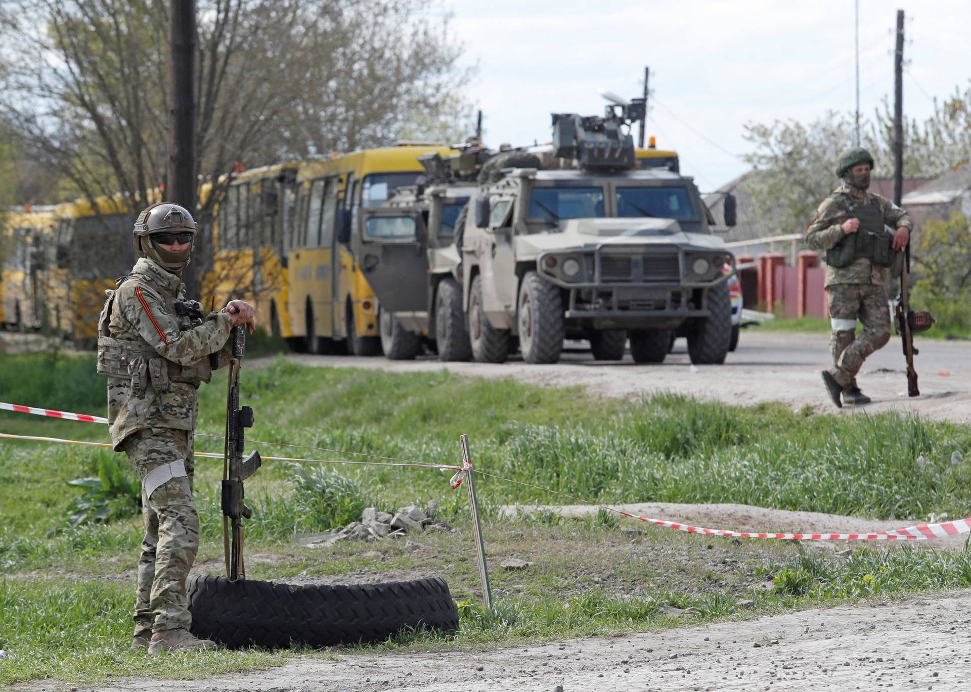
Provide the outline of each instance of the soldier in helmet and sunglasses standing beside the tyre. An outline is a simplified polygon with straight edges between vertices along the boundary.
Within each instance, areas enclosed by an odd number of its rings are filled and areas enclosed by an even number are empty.
[[[199,545],[192,503],[196,389],[212,378],[209,356],[227,345],[232,327],[253,325],[253,309],[243,301],[209,315],[185,301],[181,274],[195,234],[191,215],[178,205],[156,204],[139,214],[139,259],[107,292],[98,324],[112,442],[142,479],[145,539],[132,648],[148,646],[149,653],[216,646],[188,632],[185,582]]]

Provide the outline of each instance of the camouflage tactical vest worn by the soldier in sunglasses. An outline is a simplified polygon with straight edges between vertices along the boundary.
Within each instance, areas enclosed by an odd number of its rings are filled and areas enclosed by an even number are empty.
[[[133,392],[145,391],[151,382],[152,388],[158,394],[168,391],[169,382],[185,382],[198,388],[202,382],[213,379],[213,370],[208,360],[182,365],[163,358],[148,344],[111,336],[109,325],[115,305],[115,291],[128,278],[117,280],[115,290],[105,291],[108,298],[98,317],[98,375],[130,378]],[[165,295],[165,292],[160,295]],[[182,300],[171,302],[173,305],[170,307],[180,316],[180,329],[189,329],[202,323],[203,313],[198,303]]]

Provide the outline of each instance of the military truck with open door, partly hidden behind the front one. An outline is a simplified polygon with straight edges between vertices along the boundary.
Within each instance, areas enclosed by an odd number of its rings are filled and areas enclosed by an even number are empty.
[[[391,360],[422,347],[471,360],[462,310],[456,229],[464,227],[477,176],[492,152],[481,145],[419,157],[425,175],[377,209],[362,210],[356,256],[378,298],[381,343]]]

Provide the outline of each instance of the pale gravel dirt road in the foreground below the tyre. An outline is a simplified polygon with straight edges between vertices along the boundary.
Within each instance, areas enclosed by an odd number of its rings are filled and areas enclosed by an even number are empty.
[[[704,627],[479,652],[301,658],[208,680],[128,679],[111,692],[682,692],[966,690],[971,595],[803,610]],[[31,690],[74,685],[39,683]]]

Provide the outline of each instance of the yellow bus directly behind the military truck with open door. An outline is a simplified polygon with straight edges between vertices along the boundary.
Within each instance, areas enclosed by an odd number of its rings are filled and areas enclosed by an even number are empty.
[[[313,353],[346,348],[378,355],[377,303],[348,246],[361,207],[378,207],[423,169],[419,156],[440,145],[402,145],[334,155],[300,165],[297,213],[285,238],[286,314],[293,346]]]

